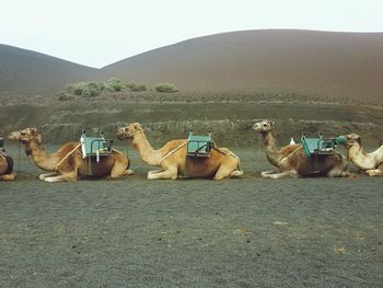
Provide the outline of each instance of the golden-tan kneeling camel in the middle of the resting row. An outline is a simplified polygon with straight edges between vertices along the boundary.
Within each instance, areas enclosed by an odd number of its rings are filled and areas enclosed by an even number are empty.
[[[154,150],[139,123],[119,128],[117,138],[131,140],[143,162],[161,168],[150,171],[148,180],[176,180],[185,175],[192,178],[224,180],[243,174],[240,159],[227,148],[212,148],[210,157],[204,159],[187,157],[186,139],[169,141]]]

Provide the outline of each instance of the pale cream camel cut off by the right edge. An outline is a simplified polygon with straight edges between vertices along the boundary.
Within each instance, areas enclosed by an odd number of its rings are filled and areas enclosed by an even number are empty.
[[[360,136],[357,134],[346,135],[347,158],[359,170],[369,176],[383,175],[383,145],[375,151],[368,153],[362,147]]]

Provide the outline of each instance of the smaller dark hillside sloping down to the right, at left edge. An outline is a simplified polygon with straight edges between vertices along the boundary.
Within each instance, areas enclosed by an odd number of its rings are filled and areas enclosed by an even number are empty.
[[[71,82],[97,78],[97,69],[0,44],[0,96],[56,92]]]

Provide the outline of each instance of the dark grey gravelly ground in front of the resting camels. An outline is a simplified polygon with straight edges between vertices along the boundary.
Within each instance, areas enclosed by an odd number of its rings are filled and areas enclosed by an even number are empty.
[[[0,183],[1,287],[382,287],[383,177]],[[49,149],[47,149],[49,150]],[[9,152],[15,158],[18,149]]]

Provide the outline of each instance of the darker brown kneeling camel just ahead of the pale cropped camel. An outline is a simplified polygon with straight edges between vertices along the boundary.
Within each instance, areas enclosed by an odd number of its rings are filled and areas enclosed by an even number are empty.
[[[311,177],[311,176],[349,176],[348,161],[340,154],[318,155],[316,161],[307,158],[301,143],[276,148],[275,122],[263,120],[254,124],[253,130],[263,135],[268,161],[280,171],[262,172],[263,177]],[[315,173],[314,173],[315,170]]]

